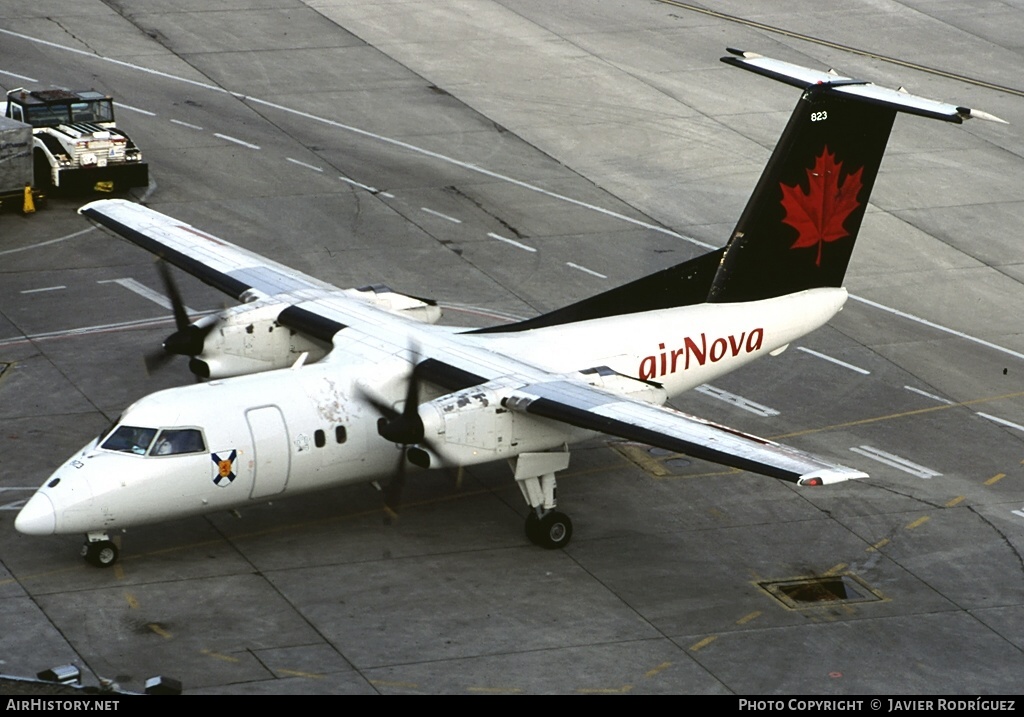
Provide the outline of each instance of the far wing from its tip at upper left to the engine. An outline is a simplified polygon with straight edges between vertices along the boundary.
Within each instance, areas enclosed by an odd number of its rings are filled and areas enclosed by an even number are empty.
[[[315,277],[229,244],[190,224],[121,199],[91,202],[79,214],[156,254],[228,296],[245,301],[301,289],[338,291]]]

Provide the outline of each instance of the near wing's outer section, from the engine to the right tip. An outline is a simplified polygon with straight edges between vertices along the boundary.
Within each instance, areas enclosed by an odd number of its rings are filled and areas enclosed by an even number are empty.
[[[575,381],[523,386],[504,406],[801,486],[867,477],[867,473],[788,446]]]

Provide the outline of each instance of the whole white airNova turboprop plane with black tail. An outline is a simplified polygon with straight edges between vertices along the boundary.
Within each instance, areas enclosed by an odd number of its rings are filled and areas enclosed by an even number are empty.
[[[391,476],[410,465],[507,459],[527,538],[568,544],[555,474],[599,434],[800,486],[865,473],[668,408],[825,324],[897,113],[996,118],[730,50],[723,60],[802,92],[724,247],[518,323],[464,330],[386,287],[341,290],[123,200],[79,211],[241,302],[178,324],[164,343],[207,379],[139,399],[60,466],[15,526],[84,533],[83,556],[118,559],[112,531]],[[1001,121],[1001,120],[999,120]],[[397,464],[396,464],[397,460]]]

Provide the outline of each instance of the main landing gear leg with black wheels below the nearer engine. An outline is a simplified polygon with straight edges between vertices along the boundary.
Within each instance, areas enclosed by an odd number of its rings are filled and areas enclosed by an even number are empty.
[[[509,463],[529,506],[526,538],[548,550],[564,548],[572,539],[572,521],[565,513],[555,510],[555,471],[568,467],[568,452],[523,453]]]

